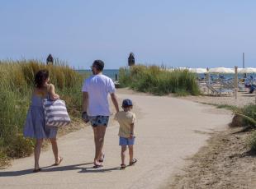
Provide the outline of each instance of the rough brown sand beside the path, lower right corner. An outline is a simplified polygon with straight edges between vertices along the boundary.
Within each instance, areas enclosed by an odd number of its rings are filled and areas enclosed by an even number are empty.
[[[212,133],[208,145],[187,159],[191,163],[183,173],[170,177],[163,188],[254,189],[256,154],[246,145],[248,137],[241,128]]]

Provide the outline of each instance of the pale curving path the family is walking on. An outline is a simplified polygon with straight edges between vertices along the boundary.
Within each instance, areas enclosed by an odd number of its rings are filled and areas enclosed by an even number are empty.
[[[107,128],[106,162],[103,168],[92,168],[92,128],[75,131],[59,139],[64,162],[53,162],[50,150],[40,157],[40,173],[31,173],[33,157],[18,159],[11,168],[0,170],[0,188],[158,188],[179,168],[187,156],[206,144],[205,132],[223,130],[231,120],[223,109],[196,104],[183,99],[149,95],[118,94],[129,97],[140,108],[136,123],[135,157],[138,164],[120,170],[118,126]],[[47,167],[48,166],[48,167]]]

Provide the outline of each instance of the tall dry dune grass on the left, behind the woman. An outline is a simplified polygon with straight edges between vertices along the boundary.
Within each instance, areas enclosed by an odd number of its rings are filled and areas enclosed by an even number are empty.
[[[31,154],[34,141],[22,136],[26,113],[31,103],[34,76],[40,69],[50,71],[50,82],[67,104],[71,118],[80,115],[83,76],[64,63],[46,66],[39,61],[0,62],[0,165],[8,158]]]

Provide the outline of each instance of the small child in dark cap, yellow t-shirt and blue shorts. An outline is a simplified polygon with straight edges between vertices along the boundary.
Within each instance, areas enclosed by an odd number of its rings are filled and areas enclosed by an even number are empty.
[[[130,99],[124,99],[122,108],[124,111],[116,113],[116,120],[119,122],[119,145],[121,145],[121,168],[126,168],[126,149],[129,148],[130,164],[133,165],[137,159],[133,158],[133,145],[135,143],[135,113],[131,112],[133,105]]]

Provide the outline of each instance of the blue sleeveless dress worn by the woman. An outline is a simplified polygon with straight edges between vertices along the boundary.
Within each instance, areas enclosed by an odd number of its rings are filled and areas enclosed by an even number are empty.
[[[45,126],[43,98],[37,95],[33,95],[31,99],[31,107],[29,108],[26,115],[26,123],[24,126],[23,135],[25,137],[36,139],[56,138],[57,131],[57,127]]]

